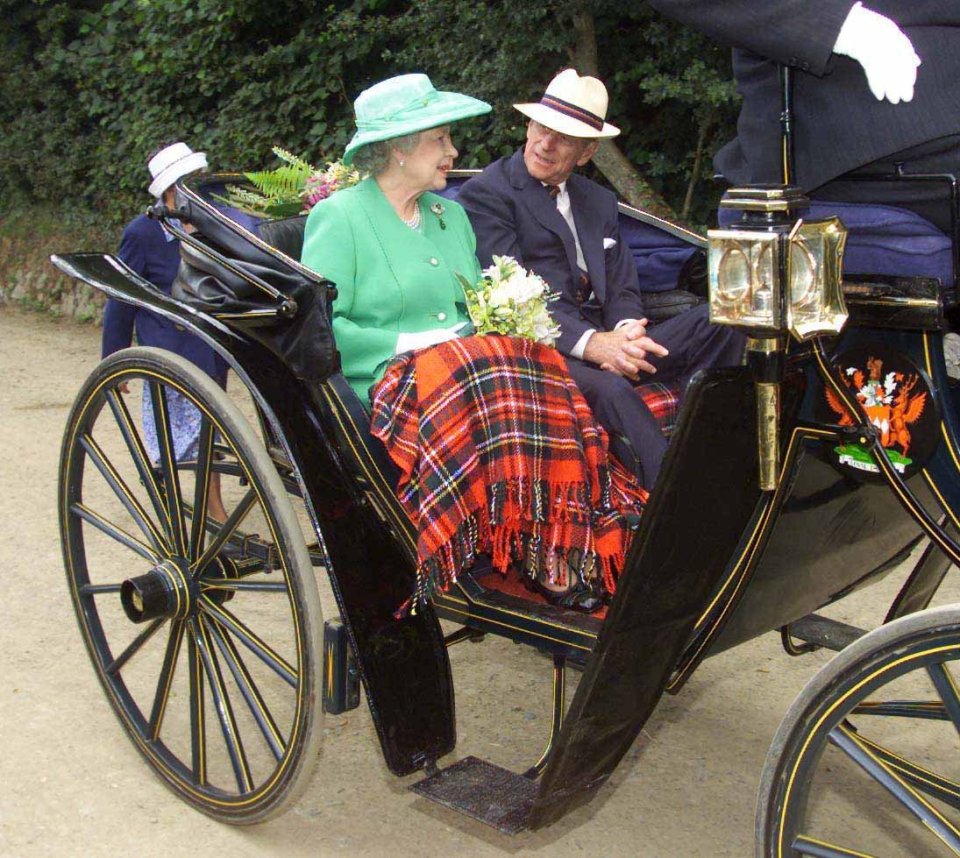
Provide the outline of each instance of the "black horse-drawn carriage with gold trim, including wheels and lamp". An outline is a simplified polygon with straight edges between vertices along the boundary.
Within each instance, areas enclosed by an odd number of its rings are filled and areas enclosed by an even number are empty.
[[[816,292],[807,307],[815,313],[804,316],[796,289],[784,288],[759,308],[771,322],[766,332],[752,329],[747,363],[702,373],[686,391],[605,615],[563,611],[499,576],[465,574],[398,617],[414,587],[416,537],[392,491],[393,467],[338,373],[335,284],[296,261],[302,220],[265,223],[255,234],[223,211],[214,197],[226,181],[242,177],[185,180],[175,212],[154,210],[182,241],[189,288],[177,299],[109,255],[54,257],[109,296],[195,332],[253,403],[245,416],[188,362],[135,348],[97,367],[64,439],[61,532],[80,627],[120,721],[178,795],[228,822],[279,812],[309,779],[323,710],[359,705],[362,684],[391,772],[422,771],[420,794],[503,831],[536,829],[596,794],[660,697],[679,692],[706,656],[779,629],[791,654],[843,653],[798,699],[771,749],[760,854],[855,854],[807,830],[828,744],[845,748],[960,854],[960,833],[934,807],[960,808],[960,784],[871,740],[859,720],[960,725],[945,666],[960,654],[960,619],[955,611],[907,617],[929,605],[960,561],[951,538],[960,425],[943,355],[954,283],[848,277],[849,319],[828,333],[818,326],[842,322],[843,312],[829,295],[838,226],[795,229],[804,201],[789,188],[732,192],[741,220],[714,237],[713,249],[747,252],[760,242],[754,249],[771,253],[782,284],[813,260],[813,292],[801,297]],[[956,206],[955,189],[953,199]],[[706,241],[643,212],[622,214],[638,264],[655,239],[676,261],[664,285],[682,272],[681,285],[695,293]],[[719,264],[711,257],[715,287]],[[671,289],[654,304],[672,312],[696,303],[694,293]],[[791,325],[798,336],[787,333]],[[884,385],[877,361],[898,374],[886,429],[859,395],[871,381]],[[152,406],[159,464],[124,396],[129,382]],[[187,458],[172,441],[172,395],[200,415],[199,449]],[[893,403],[897,395],[906,398]],[[907,426],[903,411],[916,410],[916,397],[922,415]],[[884,446],[895,417],[910,433],[900,455]],[[206,513],[211,474],[226,484],[225,522]],[[299,519],[291,497],[302,500]],[[883,618],[897,622],[857,642],[862,630],[815,613],[908,559],[912,571]],[[315,567],[329,576],[339,610],[325,625]],[[441,619],[456,630],[444,635]],[[441,767],[456,744],[447,647],[487,634],[553,660],[551,734],[522,773],[476,757]],[[567,707],[570,665],[583,676]],[[933,677],[935,693],[871,697],[917,670]]]

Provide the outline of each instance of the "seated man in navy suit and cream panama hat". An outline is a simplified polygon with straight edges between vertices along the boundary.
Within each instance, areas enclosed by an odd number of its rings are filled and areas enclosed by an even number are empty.
[[[539,102],[514,107],[529,119],[526,144],[458,196],[477,255],[484,266],[494,254],[513,256],[559,293],[551,306],[561,328],[557,348],[610,432],[611,448],[650,488],[667,443],[633,385],[656,380],[682,390],[700,369],[739,363],[743,337],[711,326],[705,305],[648,325],[616,196],[576,173],[602,139],[620,133],[606,121],[603,83],[566,69]]]

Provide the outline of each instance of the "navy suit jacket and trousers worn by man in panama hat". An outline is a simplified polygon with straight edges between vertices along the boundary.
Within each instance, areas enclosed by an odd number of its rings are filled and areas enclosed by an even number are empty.
[[[467,181],[457,200],[477,234],[481,265],[489,265],[494,255],[513,256],[559,293],[550,307],[561,329],[557,347],[567,356],[570,374],[597,420],[611,433],[614,452],[649,488],[666,450],[657,421],[628,379],[570,357],[588,329],[611,330],[623,319],[644,317],[637,270],[630,248],[621,240],[616,196],[578,175],[567,180],[567,193],[588,285],[577,265],[573,233],[547,189],[527,172],[522,150]],[[651,327],[650,336],[670,354],[649,357],[657,372],[644,378],[677,384],[681,390],[698,370],[737,364],[743,352],[742,335],[711,326],[705,306]],[[639,461],[618,435],[630,441]]]

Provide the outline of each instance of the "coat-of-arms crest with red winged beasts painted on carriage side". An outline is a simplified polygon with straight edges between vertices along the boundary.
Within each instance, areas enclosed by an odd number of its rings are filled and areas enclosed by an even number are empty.
[[[894,468],[909,476],[930,457],[937,443],[939,415],[936,399],[924,373],[898,352],[856,349],[838,358],[843,380],[863,406],[880,434]],[[830,419],[853,426],[852,415],[828,387],[824,401]],[[858,444],[833,448],[839,464],[856,471],[879,474],[871,455]]]

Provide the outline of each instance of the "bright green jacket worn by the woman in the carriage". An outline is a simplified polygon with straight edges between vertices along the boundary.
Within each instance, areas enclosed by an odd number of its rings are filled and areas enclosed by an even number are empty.
[[[343,374],[367,403],[399,333],[469,321],[456,275],[470,283],[480,277],[470,222],[461,206],[436,194],[418,204],[414,231],[369,178],[318,203],[307,218],[301,258],[337,286],[333,335]],[[431,210],[438,206],[440,215]]]

